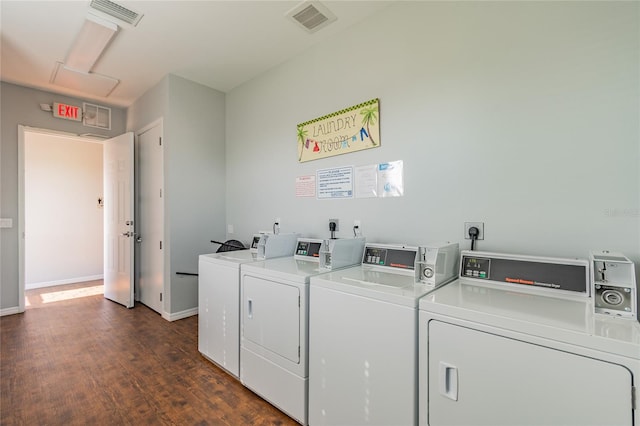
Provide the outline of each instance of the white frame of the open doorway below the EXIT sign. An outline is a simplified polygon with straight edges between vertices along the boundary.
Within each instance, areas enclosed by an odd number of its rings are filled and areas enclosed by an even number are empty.
[[[25,137],[26,133],[64,136],[69,139],[103,144],[103,138],[78,136],[75,133],[18,125],[18,313],[25,311]]]

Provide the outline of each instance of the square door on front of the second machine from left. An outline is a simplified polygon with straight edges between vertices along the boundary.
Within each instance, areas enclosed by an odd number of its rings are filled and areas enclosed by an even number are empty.
[[[245,275],[243,303],[242,327],[247,348],[263,356],[279,356],[299,364],[299,288]]]

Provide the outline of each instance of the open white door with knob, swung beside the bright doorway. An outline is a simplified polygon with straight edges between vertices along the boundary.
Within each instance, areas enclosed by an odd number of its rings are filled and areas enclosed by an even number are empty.
[[[134,305],[133,133],[104,142],[104,297]]]

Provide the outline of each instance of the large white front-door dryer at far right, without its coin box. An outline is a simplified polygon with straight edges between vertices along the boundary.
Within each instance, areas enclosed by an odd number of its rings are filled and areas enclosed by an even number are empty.
[[[463,251],[420,300],[420,424],[640,424],[640,324],[589,293],[586,260]]]

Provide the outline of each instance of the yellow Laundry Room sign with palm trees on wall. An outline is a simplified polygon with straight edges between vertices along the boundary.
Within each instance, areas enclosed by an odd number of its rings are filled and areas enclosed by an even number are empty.
[[[372,99],[298,124],[298,161],[380,146],[380,100]]]

